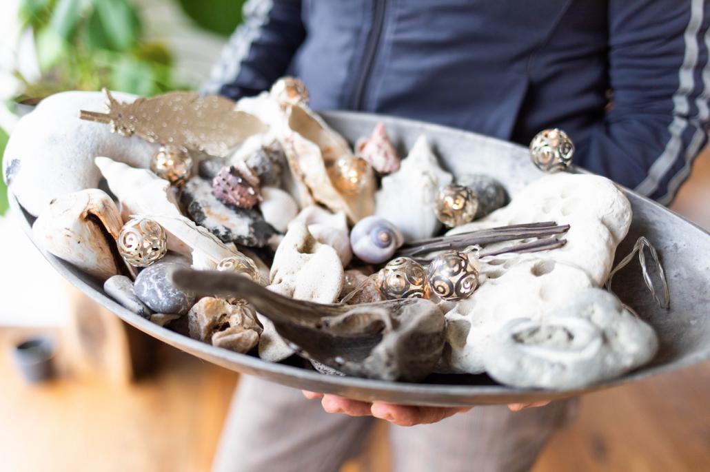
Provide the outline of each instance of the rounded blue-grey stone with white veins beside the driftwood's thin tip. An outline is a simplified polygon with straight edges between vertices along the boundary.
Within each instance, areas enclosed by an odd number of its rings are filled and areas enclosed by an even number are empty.
[[[134,284],[138,298],[158,313],[187,313],[195,304],[195,294],[178,289],[169,277],[179,268],[181,264],[159,262],[141,270]]]

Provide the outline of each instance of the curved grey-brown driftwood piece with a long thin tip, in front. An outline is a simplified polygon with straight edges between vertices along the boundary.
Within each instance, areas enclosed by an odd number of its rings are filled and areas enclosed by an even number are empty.
[[[278,295],[241,275],[187,269],[173,273],[173,282],[247,300],[300,356],[347,375],[422,380],[444,348],[444,315],[430,300],[321,304]]]

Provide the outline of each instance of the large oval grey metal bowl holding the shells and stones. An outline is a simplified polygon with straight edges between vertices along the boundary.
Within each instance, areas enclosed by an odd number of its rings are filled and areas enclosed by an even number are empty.
[[[400,148],[410,148],[417,136],[430,138],[445,167],[461,175],[481,172],[497,177],[511,194],[542,175],[531,163],[528,150],[503,141],[443,126],[385,116],[329,112],[324,119],[350,141],[368,134],[383,121]],[[633,223],[617,259],[626,255],[639,236],[658,249],[670,285],[671,308],[661,309],[649,297],[638,263],[615,278],[614,288],[623,302],[652,324],[660,337],[660,351],[643,368],[623,377],[578,390],[535,390],[498,385],[486,375],[432,375],[425,383],[393,383],[353,377],[322,375],[297,366],[261,361],[252,356],[215,348],[153,324],[107,297],[97,280],[45,253],[56,270],[82,292],[121,319],[161,341],[219,366],[258,375],[283,385],[357,400],[384,400],[412,405],[484,405],[571,397],[591,390],[620,385],[650,375],[674,371],[710,358],[710,235],[659,204],[625,190],[633,207]],[[16,199],[13,209],[25,219],[31,235],[33,218]]]

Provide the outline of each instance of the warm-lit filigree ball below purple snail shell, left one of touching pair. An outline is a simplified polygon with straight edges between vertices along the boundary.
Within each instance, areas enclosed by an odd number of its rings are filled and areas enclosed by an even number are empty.
[[[391,260],[378,273],[377,285],[390,300],[427,298],[427,274],[420,263],[410,258]]]

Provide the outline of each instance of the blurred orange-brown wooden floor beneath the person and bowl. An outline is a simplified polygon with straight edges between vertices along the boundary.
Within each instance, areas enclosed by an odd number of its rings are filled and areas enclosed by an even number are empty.
[[[710,228],[709,154],[674,208]],[[9,357],[17,335],[0,329],[0,471],[209,470],[237,375],[163,346],[142,383],[29,386]],[[347,472],[389,470],[385,431]],[[583,397],[535,466],[558,471],[710,471],[710,363]]]

